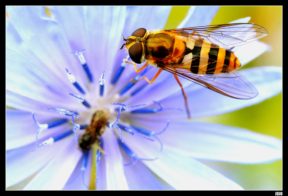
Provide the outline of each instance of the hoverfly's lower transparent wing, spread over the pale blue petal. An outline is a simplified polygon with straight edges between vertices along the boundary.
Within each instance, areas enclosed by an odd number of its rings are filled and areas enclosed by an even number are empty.
[[[208,65],[206,65],[206,67],[203,66],[202,69],[207,70],[207,66]],[[223,69],[228,70],[229,73],[195,74],[192,73],[191,70],[198,69],[198,65],[193,66],[193,61],[192,64],[190,62],[187,64],[181,63],[165,65],[162,69],[228,97],[236,99],[252,99],[258,95],[257,89],[251,84],[251,82],[244,78],[238,71],[233,70],[233,68],[226,65],[223,66]]]

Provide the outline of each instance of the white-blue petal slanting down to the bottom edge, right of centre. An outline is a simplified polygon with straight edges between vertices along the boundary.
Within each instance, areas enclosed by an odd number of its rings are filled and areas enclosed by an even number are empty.
[[[172,138],[170,137],[170,140]],[[128,139],[125,141],[128,142]],[[141,140],[136,139],[136,141],[140,142]],[[143,145],[148,143],[147,141],[141,141],[140,144],[136,141],[129,142],[131,149],[136,154],[141,152],[140,157],[151,158],[155,152],[155,146]],[[151,143],[151,141],[149,142]],[[233,181],[179,152],[163,149],[157,157],[158,159],[154,161],[142,162],[176,190],[242,190]]]

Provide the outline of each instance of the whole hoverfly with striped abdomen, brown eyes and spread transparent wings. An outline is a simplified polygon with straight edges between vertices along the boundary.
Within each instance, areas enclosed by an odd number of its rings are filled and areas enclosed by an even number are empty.
[[[251,23],[210,25],[171,30],[135,30],[127,39],[122,37],[129,56],[138,73],[147,65],[159,68],[148,80],[153,83],[162,70],[186,78],[206,88],[236,99],[251,99],[258,95],[257,89],[238,71],[241,66],[232,49],[266,36],[268,32]],[[145,62],[137,70],[137,64]],[[182,93],[188,111],[186,94]],[[189,114],[188,114],[189,117]]]

